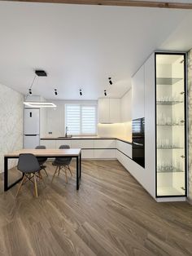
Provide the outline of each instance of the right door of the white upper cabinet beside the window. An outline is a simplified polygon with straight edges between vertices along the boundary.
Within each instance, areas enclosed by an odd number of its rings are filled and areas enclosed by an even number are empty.
[[[110,122],[120,122],[120,99],[109,99]]]

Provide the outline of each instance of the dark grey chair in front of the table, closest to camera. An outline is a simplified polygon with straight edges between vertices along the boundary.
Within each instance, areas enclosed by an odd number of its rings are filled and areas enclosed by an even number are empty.
[[[40,173],[41,166],[37,161],[37,157],[35,157],[33,154],[28,153],[20,154],[17,169],[23,173],[23,179],[20,183],[20,187],[17,190],[16,196],[18,196],[22,185],[30,181],[34,184],[34,192],[37,197],[37,178],[43,181]]]

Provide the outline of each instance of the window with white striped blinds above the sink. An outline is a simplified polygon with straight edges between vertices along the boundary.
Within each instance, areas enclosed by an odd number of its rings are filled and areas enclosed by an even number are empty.
[[[96,135],[97,105],[65,104],[65,126],[69,135]]]

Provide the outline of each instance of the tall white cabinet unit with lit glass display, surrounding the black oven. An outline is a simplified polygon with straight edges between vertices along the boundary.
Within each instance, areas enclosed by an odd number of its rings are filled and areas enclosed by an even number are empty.
[[[132,78],[133,119],[145,117],[145,169],[129,172],[156,201],[187,195],[185,54],[155,52]]]

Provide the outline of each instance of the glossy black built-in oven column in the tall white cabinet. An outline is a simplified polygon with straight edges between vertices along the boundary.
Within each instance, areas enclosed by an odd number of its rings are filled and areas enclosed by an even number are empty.
[[[132,120],[133,161],[145,168],[145,118]]]

